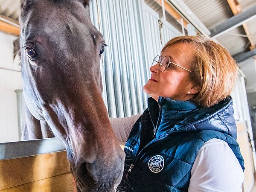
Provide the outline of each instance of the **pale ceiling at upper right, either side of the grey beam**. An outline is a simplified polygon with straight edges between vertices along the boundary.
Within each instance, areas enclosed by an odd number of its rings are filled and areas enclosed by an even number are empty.
[[[221,23],[234,16],[229,2],[235,3],[240,13],[256,6],[256,0],[183,0],[183,2],[209,30],[216,26],[218,28]],[[256,15],[256,9],[253,12]],[[250,51],[250,47],[251,49],[255,48],[255,26],[256,17],[245,22],[243,26],[227,31],[215,39],[226,47],[232,55],[247,52]]]

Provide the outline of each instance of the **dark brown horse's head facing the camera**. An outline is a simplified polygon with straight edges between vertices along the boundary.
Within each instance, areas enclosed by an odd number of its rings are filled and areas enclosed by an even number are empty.
[[[20,53],[29,111],[67,146],[82,191],[113,191],[125,154],[102,93],[105,42],[86,11],[89,0],[21,0]]]

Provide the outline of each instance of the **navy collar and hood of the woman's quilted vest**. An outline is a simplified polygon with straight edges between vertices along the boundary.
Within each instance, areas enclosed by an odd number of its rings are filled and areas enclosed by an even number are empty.
[[[175,101],[159,97],[158,103],[152,98],[148,101],[148,110],[154,125],[157,123],[159,114],[158,105],[163,109],[162,113],[160,110],[161,120],[158,128],[158,130],[164,130],[161,135],[173,132],[215,130],[229,134],[235,139],[237,137],[231,97],[210,108],[199,107],[191,100]]]

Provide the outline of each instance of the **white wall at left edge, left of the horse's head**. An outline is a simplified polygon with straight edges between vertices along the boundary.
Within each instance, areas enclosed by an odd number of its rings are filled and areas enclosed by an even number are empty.
[[[16,89],[22,89],[20,66],[13,61],[13,41],[17,37],[0,32],[0,142],[17,141]]]

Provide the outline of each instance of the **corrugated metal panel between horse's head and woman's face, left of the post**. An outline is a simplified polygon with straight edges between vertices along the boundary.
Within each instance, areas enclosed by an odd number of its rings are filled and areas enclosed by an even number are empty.
[[[111,117],[142,113],[146,95],[146,66],[140,4],[136,1],[99,0],[99,29],[109,45],[103,55],[108,111]]]

